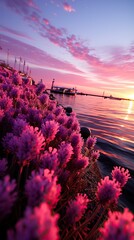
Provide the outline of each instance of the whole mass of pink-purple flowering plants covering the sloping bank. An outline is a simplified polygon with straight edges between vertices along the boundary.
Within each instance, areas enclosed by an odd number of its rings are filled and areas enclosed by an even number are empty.
[[[113,179],[100,180],[95,144],[92,136],[84,143],[75,113],[67,115],[43,83],[30,85],[29,78],[0,67],[0,238],[99,236],[99,224],[117,203],[130,174],[116,167]],[[107,220],[101,239],[112,239],[106,235],[109,226],[117,236],[121,219],[124,229],[129,222],[133,226],[124,214],[108,215],[115,225]],[[132,234],[123,239],[132,239]]]

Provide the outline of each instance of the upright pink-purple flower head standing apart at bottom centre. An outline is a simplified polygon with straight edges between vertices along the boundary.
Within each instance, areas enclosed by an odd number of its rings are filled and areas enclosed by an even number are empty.
[[[75,200],[70,201],[66,211],[66,221],[68,224],[78,222],[87,208],[89,200],[86,194],[78,194]]]

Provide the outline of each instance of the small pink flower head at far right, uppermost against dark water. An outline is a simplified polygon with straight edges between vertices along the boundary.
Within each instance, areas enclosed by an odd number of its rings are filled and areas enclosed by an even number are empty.
[[[128,169],[121,167],[114,167],[112,170],[112,178],[115,179],[121,187],[127,183],[128,179],[131,178]]]

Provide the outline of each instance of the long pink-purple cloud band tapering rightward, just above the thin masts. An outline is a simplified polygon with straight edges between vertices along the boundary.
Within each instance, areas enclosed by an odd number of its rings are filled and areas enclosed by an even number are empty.
[[[39,48],[33,47],[8,36],[0,35],[0,38],[2,51],[5,51],[5,55],[10,46],[10,56],[13,58],[14,56],[21,56],[22,59],[25,59],[26,62],[34,64],[37,68],[42,66],[45,68],[53,68],[56,71],[60,71],[60,69],[62,69],[65,72],[72,72],[76,75],[82,74],[82,72],[76,69],[72,64],[60,61]]]

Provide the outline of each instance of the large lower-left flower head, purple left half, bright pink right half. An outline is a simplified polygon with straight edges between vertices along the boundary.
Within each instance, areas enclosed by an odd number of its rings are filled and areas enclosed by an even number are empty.
[[[61,187],[57,184],[57,177],[53,176],[48,169],[35,171],[26,182],[25,192],[28,198],[28,205],[34,207],[45,201],[49,206],[54,207],[60,196]]]

